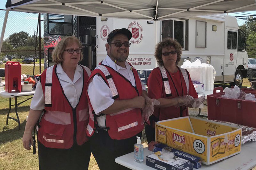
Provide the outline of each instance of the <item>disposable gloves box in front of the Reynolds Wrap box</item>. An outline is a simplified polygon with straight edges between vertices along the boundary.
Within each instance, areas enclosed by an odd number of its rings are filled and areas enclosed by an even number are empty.
[[[159,170],[193,170],[188,160],[174,156],[175,161],[165,160],[158,151],[146,156],[146,165]]]

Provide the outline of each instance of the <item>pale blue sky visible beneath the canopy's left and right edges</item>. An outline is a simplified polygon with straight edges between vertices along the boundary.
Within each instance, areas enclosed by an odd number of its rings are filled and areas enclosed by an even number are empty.
[[[0,9],[5,9],[6,0],[0,0]],[[4,11],[0,11],[0,33],[2,32],[3,21],[4,21]],[[11,14],[12,13],[12,14]],[[247,11],[247,12],[237,12],[237,13],[229,13],[228,15],[232,16],[243,16],[243,15],[256,15],[256,11]],[[12,18],[12,16],[15,16]],[[10,20],[9,20],[10,18]],[[34,35],[33,28],[37,27],[37,19],[38,14],[27,14],[23,12],[9,12],[9,18],[7,20],[7,26],[4,34],[4,39],[9,37],[12,33],[25,31],[29,33],[29,35]],[[20,19],[19,19],[20,18]],[[26,19],[24,22],[24,18]],[[43,19],[43,15],[41,15],[41,19]],[[9,21],[9,23],[8,23]],[[237,19],[238,25],[243,25],[245,20]],[[10,24],[12,23],[12,24]],[[16,27],[13,29],[13,23],[15,23]],[[43,34],[43,23],[41,23],[41,33]]]

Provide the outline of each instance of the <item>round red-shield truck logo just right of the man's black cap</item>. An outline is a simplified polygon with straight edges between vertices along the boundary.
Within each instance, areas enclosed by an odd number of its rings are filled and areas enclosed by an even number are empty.
[[[127,29],[132,33],[130,42],[132,44],[139,44],[143,38],[143,29],[140,23],[133,21],[128,25]]]

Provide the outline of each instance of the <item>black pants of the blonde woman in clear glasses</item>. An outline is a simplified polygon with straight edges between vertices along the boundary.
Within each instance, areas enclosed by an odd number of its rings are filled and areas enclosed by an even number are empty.
[[[70,149],[47,148],[38,140],[39,170],[87,170],[90,162],[90,143],[74,144]]]

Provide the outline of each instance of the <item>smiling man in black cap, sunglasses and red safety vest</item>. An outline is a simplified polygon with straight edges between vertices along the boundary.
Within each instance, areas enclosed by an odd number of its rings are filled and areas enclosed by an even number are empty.
[[[93,70],[87,83],[90,105],[87,135],[98,166],[126,169],[115,158],[134,151],[136,136],[144,129],[142,109],[146,88],[137,71],[126,61],[132,33],[125,28],[108,35],[106,58]]]

